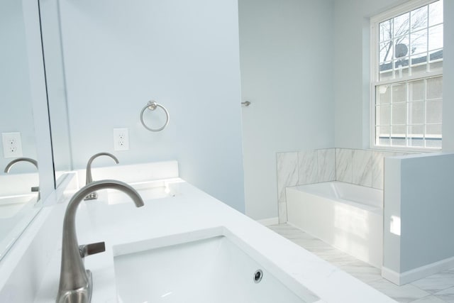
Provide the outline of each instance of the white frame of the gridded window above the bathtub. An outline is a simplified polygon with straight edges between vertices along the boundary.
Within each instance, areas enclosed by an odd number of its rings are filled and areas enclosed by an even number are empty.
[[[397,151],[410,151],[410,152],[422,152],[422,153],[433,153],[438,152],[442,148],[421,148],[421,147],[411,147],[411,146],[397,146],[397,145],[376,145],[375,142],[375,98],[376,92],[375,87],[382,84],[392,84],[399,82],[409,82],[416,79],[428,79],[431,77],[443,76],[443,69],[441,72],[426,72],[421,75],[411,75],[397,79],[389,79],[384,81],[379,81],[379,28],[382,21],[387,21],[390,18],[397,17],[402,13],[418,9],[421,6],[426,6],[438,0],[414,0],[408,1],[402,5],[396,6],[394,9],[389,9],[384,13],[380,13],[377,16],[370,18],[370,148],[377,150],[397,150]],[[449,0],[444,0],[449,1]],[[444,25],[444,20],[443,20]],[[443,123],[443,122],[442,122]],[[442,133],[442,146],[443,146],[443,133]]]

